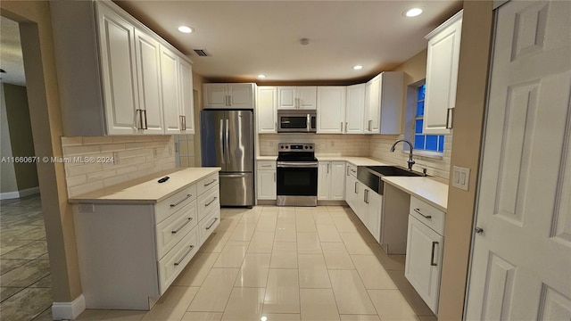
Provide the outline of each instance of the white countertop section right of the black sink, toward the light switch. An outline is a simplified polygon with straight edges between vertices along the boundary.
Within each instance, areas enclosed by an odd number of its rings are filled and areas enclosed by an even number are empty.
[[[446,212],[448,206],[448,185],[429,177],[382,177],[387,184],[410,193],[422,201]]]

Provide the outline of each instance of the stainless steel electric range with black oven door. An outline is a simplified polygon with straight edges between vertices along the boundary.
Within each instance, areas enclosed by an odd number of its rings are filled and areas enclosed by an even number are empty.
[[[315,144],[277,145],[277,206],[318,205]]]

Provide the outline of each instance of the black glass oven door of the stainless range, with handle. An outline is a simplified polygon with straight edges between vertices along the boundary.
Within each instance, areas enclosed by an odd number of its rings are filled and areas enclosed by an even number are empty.
[[[318,195],[317,161],[278,161],[277,196]]]

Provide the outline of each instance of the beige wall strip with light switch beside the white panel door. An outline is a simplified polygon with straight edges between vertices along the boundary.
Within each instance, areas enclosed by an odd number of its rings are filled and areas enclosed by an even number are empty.
[[[492,1],[465,1],[451,164],[470,169],[470,181],[468,191],[448,192],[439,320],[460,320],[464,309],[491,35]]]

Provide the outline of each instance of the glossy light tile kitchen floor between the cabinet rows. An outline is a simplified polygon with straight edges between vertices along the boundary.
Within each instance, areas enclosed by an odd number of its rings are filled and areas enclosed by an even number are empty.
[[[78,320],[436,320],[351,209],[222,209],[221,222],[150,311]]]

